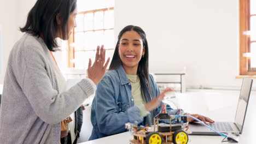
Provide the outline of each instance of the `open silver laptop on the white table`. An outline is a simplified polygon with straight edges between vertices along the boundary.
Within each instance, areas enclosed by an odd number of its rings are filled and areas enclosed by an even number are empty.
[[[243,124],[245,122],[246,110],[248,106],[249,96],[252,89],[252,79],[244,78],[240,91],[240,97],[236,109],[235,122],[215,122],[209,123],[209,126],[220,133],[242,134]],[[218,135],[210,128],[205,127],[201,123],[190,123],[189,129],[192,131],[190,135]]]

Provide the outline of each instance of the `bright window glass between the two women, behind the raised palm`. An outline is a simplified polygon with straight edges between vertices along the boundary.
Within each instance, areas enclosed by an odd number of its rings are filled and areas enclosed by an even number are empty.
[[[78,11],[97,10],[114,7],[114,0],[77,0]],[[77,15],[75,28],[75,68],[88,67],[89,58],[95,61],[97,45],[114,49],[114,30],[92,31],[114,28],[114,10],[97,11]],[[86,31],[86,32],[81,32]],[[112,57],[114,50],[106,50],[106,58]],[[110,59],[111,61],[111,59]]]

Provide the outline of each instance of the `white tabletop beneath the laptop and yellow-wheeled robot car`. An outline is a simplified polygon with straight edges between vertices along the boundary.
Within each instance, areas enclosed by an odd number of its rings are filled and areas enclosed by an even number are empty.
[[[201,92],[187,92],[177,95],[180,106],[191,113],[201,113],[211,117],[214,121],[234,121],[239,91],[201,91]],[[170,99],[166,98],[166,101]],[[247,109],[247,116],[243,133],[240,136],[238,143],[255,143],[256,136],[256,93],[252,92]],[[223,136],[196,136],[189,135],[190,144],[218,144],[230,143],[221,142]],[[82,144],[100,144],[100,143],[127,143],[132,139],[129,132],[103,137],[102,139],[83,142]]]

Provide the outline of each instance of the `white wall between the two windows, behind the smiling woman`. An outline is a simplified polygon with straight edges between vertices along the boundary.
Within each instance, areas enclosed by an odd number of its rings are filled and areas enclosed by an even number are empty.
[[[144,29],[150,71],[187,68],[187,87],[240,87],[238,1],[116,0],[115,35]],[[117,38],[116,38],[117,39]]]

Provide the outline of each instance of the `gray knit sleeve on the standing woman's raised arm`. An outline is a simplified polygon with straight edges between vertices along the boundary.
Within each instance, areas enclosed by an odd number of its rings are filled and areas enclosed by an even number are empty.
[[[18,75],[22,77],[20,86],[38,117],[46,123],[56,124],[77,110],[95,92],[95,86],[90,80],[83,79],[67,91],[58,93],[53,87],[54,71],[40,49],[42,47],[27,45],[19,55],[20,59],[25,59],[24,64],[17,65],[24,69]]]

